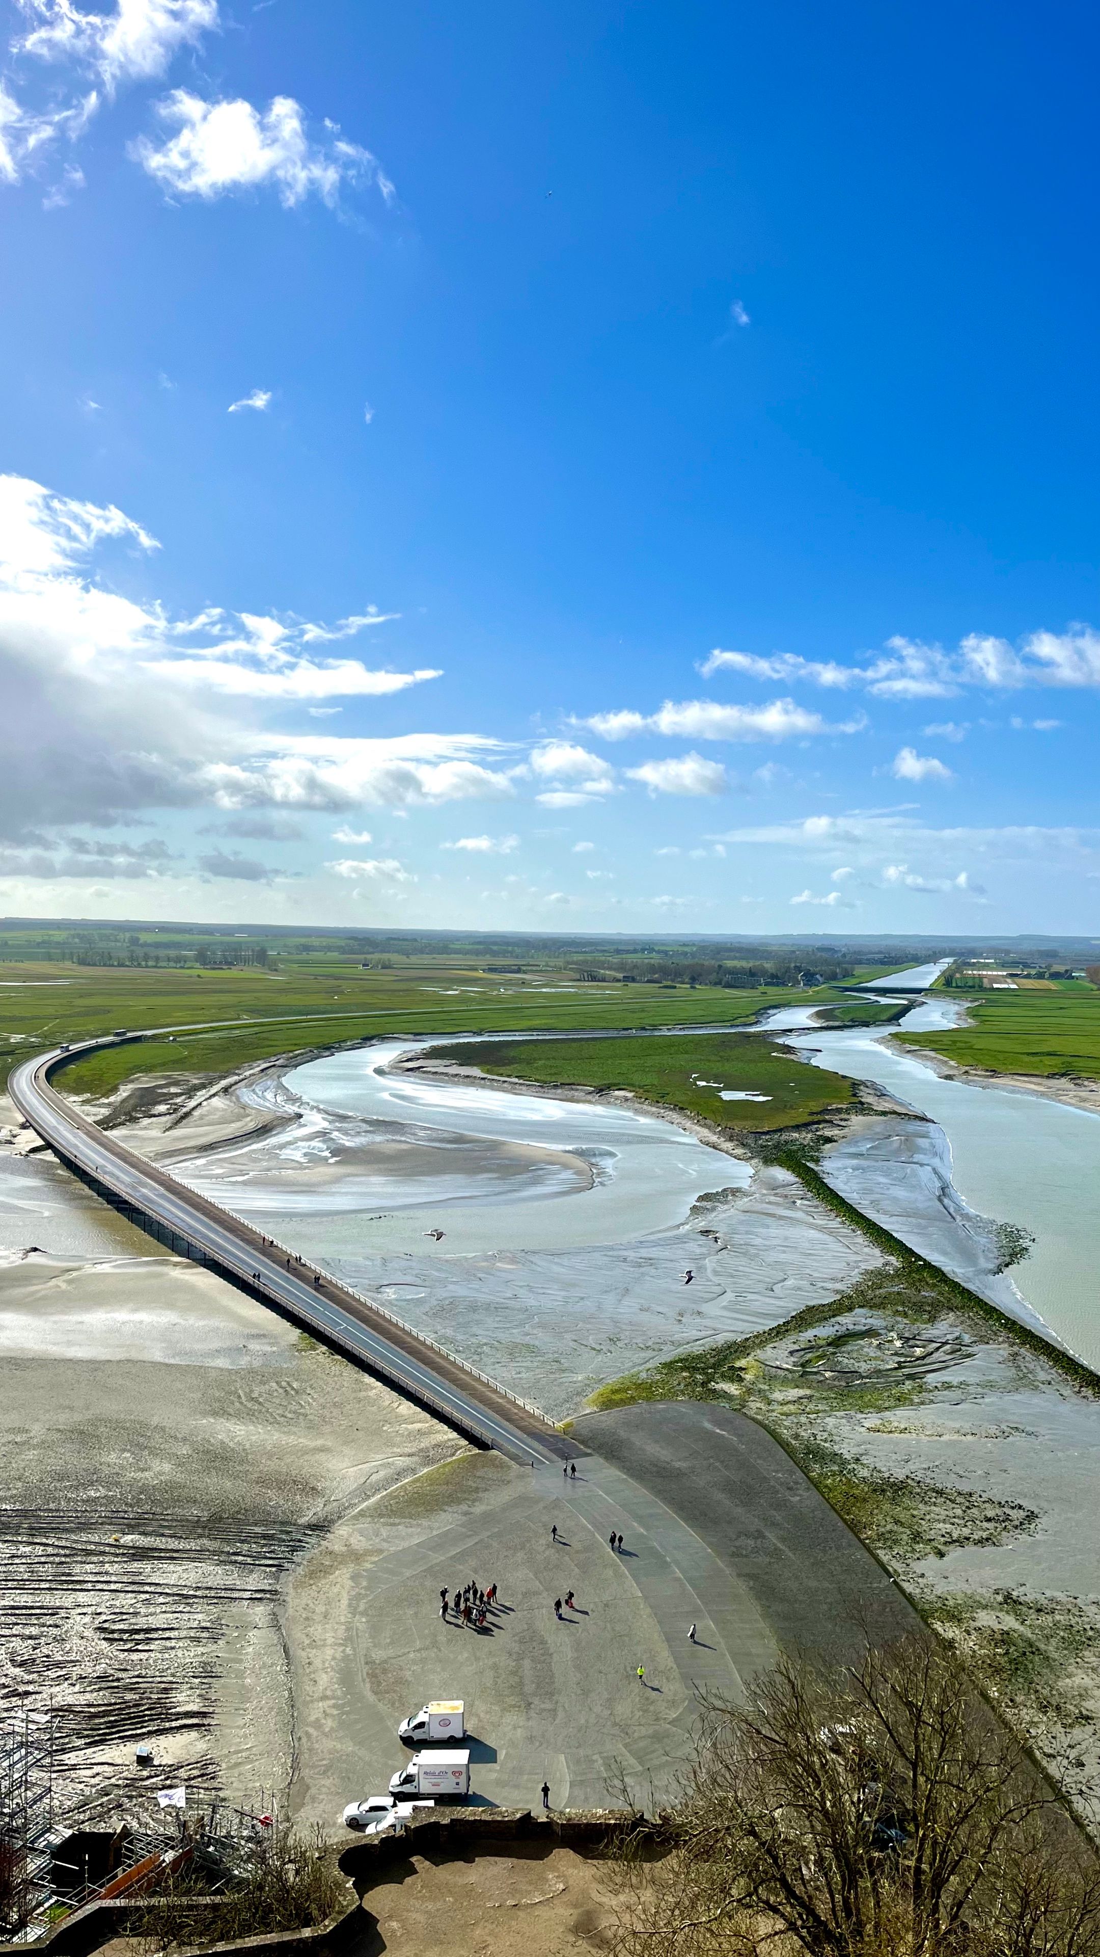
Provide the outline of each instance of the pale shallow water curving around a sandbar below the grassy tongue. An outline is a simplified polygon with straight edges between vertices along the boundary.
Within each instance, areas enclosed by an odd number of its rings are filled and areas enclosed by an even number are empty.
[[[427,1045],[384,1039],[258,1082],[245,1098],[292,1125],[178,1174],[241,1215],[327,1215],[333,1249],[358,1241],[372,1211],[378,1249],[407,1251],[438,1227],[448,1249],[474,1252],[620,1243],[752,1182],[748,1162],[622,1102],[388,1070]]]

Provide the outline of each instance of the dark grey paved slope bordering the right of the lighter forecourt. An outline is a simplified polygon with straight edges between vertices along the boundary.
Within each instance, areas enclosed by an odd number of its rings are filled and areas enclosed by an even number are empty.
[[[775,1642],[836,1663],[924,1630],[883,1566],[744,1413],[664,1401],[585,1413],[573,1436],[709,1546]]]

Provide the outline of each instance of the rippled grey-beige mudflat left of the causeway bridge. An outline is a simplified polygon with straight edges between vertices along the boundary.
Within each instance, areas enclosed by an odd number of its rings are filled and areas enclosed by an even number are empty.
[[[290,1579],[460,1442],[49,1157],[0,1147],[0,1718],[55,1708],[67,1812],[137,1793],[139,1744],[286,1798]]]

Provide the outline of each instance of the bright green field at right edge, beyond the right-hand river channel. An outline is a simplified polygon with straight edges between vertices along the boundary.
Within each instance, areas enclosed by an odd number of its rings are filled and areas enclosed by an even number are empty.
[[[1100,992],[1063,978],[1049,992],[949,992],[963,998],[973,1025],[947,1033],[906,1033],[906,1047],[930,1047],[959,1067],[994,1074],[1080,1074],[1100,1080]]]

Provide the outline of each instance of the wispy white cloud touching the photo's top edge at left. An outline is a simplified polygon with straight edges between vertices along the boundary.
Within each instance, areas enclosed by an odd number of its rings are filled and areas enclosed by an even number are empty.
[[[186,43],[217,27],[217,0],[117,0],[86,14],[72,0],[18,0],[31,31],[16,51],[94,68],[108,88],[153,80]]]

